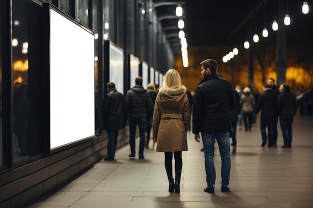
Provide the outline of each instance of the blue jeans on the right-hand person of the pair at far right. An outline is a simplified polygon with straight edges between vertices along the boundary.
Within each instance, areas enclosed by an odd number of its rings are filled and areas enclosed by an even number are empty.
[[[282,132],[283,144],[289,145],[292,142],[293,115],[280,115],[279,123]]]

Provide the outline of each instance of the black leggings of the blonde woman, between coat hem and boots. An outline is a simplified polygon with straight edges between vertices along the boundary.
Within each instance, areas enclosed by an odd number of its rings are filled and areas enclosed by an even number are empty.
[[[164,154],[165,154],[165,170],[166,170],[167,178],[168,180],[171,180],[173,178],[172,165],[171,165],[173,152],[164,152]],[[182,169],[181,151],[174,152],[174,159],[175,159],[175,178],[180,179],[181,169]]]

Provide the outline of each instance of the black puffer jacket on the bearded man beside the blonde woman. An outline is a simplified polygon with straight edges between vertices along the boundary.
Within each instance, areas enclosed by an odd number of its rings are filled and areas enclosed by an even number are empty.
[[[229,110],[235,108],[236,99],[231,83],[219,79],[216,74],[205,76],[195,91],[192,132],[230,130]]]

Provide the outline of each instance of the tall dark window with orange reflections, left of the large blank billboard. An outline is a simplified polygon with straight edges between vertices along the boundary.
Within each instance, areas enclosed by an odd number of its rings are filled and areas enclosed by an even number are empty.
[[[42,152],[42,15],[31,0],[12,1],[13,161]]]

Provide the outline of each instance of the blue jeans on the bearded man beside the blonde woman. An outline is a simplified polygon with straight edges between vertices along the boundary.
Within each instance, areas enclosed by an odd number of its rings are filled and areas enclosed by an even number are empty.
[[[206,183],[208,187],[215,185],[216,173],[213,162],[215,138],[221,157],[221,185],[228,186],[230,176],[229,131],[201,132],[205,159]]]

